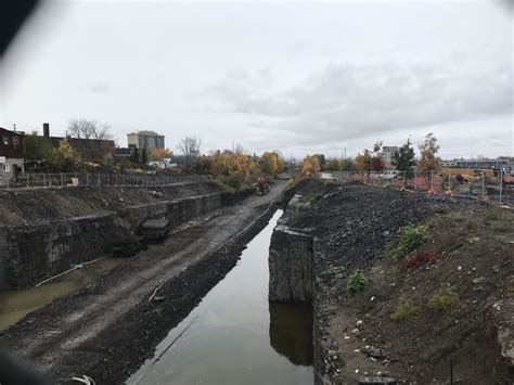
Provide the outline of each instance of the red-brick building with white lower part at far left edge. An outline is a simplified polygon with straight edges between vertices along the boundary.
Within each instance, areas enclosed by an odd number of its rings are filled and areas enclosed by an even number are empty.
[[[16,178],[25,171],[24,132],[0,127],[0,179]]]

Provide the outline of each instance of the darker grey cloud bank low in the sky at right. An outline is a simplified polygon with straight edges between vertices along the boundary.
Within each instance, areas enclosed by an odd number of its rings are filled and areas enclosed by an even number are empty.
[[[207,94],[222,108],[259,116],[261,127],[298,134],[296,144],[330,143],[391,129],[416,129],[512,113],[512,70],[459,74],[445,66],[331,65],[280,92],[228,80]]]

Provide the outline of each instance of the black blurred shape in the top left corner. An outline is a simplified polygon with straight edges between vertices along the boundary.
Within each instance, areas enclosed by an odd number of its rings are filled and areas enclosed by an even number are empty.
[[[0,57],[5,53],[23,23],[36,10],[39,0],[2,0],[0,5]]]

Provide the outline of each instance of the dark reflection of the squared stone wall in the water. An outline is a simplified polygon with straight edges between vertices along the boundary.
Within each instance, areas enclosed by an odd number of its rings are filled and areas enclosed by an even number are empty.
[[[312,305],[269,303],[270,345],[295,365],[311,367]]]

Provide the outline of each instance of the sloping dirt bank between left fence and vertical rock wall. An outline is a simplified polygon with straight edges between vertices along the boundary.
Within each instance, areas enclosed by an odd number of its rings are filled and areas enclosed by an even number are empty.
[[[204,195],[220,191],[214,183],[155,188],[77,187],[0,190],[1,226],[18,226],[120,211],[127,207]]]

